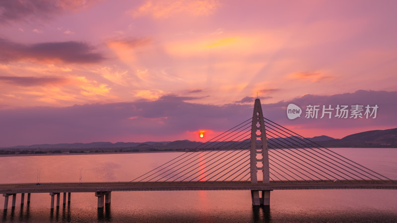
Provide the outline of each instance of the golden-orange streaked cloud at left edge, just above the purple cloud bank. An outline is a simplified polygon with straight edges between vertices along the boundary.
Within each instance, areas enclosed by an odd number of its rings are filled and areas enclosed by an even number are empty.
[[[54,72],[58,73],[59,69],[56,68]],[[52,73],[49,70],[43,72]],[[58,107],[117,99],[107,83],[70,72],[53,76],[0,76],[0,88],[6,92],[3,93],[5,97],[1,98],[0,94],[0,108],[38,104]]]

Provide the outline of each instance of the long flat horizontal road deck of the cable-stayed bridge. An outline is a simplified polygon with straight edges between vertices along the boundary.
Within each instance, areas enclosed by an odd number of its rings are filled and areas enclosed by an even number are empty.
[[[0,184],[0,193],[167,191],[167,190],[305,190],[305,189],[397,189],[397,181],[271,181],[259,182],[87,182]]]

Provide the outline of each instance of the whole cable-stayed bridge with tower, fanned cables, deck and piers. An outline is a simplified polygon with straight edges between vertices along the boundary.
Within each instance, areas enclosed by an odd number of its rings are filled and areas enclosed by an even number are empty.
[[[98,208],[110,203],[112,191],[251,190],[252,203],[270,204],[271,190],[292,189],[397,189],[397,182],[331,149],[264,118],[259,99],[253,117],[189,149],[129,182],[0,184],[0,193],[48,192],[51,208],[60,194],[95,192]]]

